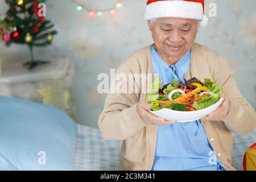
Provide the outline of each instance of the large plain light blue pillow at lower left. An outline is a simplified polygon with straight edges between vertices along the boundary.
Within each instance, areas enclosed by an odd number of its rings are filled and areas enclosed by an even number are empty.
[[[75,170],[76,137],[56,107],[0,97],[0,170]]]

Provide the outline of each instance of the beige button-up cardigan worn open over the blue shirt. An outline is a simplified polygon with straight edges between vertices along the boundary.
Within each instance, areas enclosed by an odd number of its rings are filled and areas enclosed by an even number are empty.
[[[152,73],[150,47],[140,49],[118,68],[117,73]],[[223,86],[231,100],[227,117],[220,122],[201,121],[210,145],[228,170],[232,167],[232,132],[246,134],[256,126],[256,114],[243,98],[228,63],[217,52],[194,43],[191,48],[191,67],[184,77],[211,78]],[[142,83],[141,83],[142,84]],[[149,84],[147,84],[147,87]],[[137,113],[137,102],[146,94],[108,94],[98,126],[106,140],[123,140],[121,170],[151,170],[155,157],[157,126],[146,125]]]

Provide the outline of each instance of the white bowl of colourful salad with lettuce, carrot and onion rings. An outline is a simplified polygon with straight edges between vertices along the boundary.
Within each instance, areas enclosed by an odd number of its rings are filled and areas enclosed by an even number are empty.
[[[221,86],[205,78],[201,82],[196,77],[183,82],[173,80],[162,86],[160,78],[151,84],[151,92],[146,95],[151,113],[180,122],[195,121],[217,109],[223,102]]]

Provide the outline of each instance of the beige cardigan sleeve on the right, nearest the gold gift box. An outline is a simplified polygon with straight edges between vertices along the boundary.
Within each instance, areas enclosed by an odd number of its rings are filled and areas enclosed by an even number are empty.
[[[231,101],[230,111],[223,122],[234,133],[250,133],[256,126],[255,111],[242,96],[228,63],[220,55],[216,58],[214,81],[223,87]]]

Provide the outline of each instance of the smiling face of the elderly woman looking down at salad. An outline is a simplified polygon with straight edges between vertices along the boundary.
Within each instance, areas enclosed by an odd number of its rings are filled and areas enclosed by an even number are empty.
[[[149,28],[158,52],[178,59],[191,48],[198,31],[197,20],[184,18],[158,18]]]

